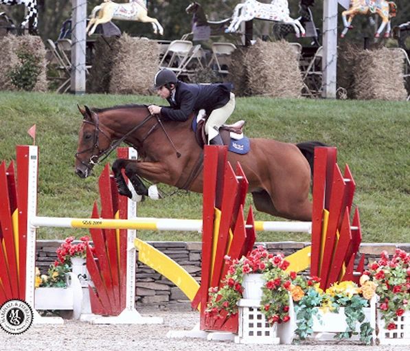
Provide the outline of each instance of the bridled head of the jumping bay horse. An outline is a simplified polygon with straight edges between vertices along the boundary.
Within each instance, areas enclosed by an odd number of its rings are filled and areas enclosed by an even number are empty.
[[[76,174],[78,177],[87,178],[98,158],[109,149],[111,136],[100,124],[98,113],[92,111],[87,106],[81,109],[80,113],[84,117],[82,126],[78,133],[78,146],[76,152]]]

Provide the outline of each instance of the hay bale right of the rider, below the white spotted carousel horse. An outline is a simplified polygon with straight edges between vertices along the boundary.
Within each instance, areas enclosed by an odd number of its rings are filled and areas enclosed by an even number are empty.
[[[288,42],[258,40],[255,45],[238,49],[233,55],[229,73],[237,95],[301,96],[303,82],[299,60]]]

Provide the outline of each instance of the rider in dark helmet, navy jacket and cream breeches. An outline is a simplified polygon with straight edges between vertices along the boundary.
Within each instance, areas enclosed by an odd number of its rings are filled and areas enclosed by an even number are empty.
[[[150,105],[152,115],[160,113],[168,120],[184,122],[192,112],[204,109],[209,116],[205,123],[208,144],[223,145],[218,129],[235,109],[231,83],[188,84],[178,80],[170,69],[161,69],[155,75],[154,87],[170,106]]]

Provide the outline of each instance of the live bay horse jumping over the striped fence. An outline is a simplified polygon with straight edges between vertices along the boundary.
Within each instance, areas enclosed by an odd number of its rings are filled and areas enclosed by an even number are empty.
[[[148,194],[141,178],[203,192],[203,149],[192,131],[194,114],[186,122],[174,122],[150,115],[144,105],[78,109],[83,116],[75,166],[79,177],[88,177],[98,160],[124,141],[137,149],[139,159],[117,159],[113,163],[119,194],[132,196],[122,169],[137,194]],[[310,164],[314,147],[324,144],[309,141],[295,145],[273,139],[250,139],[250,144],[251,150],[245,155],[228,152],[228,160],[232,165],[240,162],[256,210],[292,220],[311,220]]]

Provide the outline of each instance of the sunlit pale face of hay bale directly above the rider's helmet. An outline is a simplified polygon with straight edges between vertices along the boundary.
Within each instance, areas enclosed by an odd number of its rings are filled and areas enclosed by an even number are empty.
[[[119,38],[113,60],[110,93],[151,95],[159,65],[159,45],[147,38]]]

